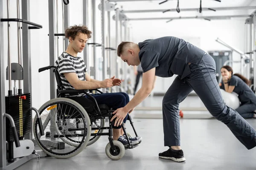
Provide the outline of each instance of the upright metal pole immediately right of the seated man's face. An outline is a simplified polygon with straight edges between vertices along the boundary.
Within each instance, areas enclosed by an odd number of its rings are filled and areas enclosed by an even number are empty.
[[[93,43],[96,43],[96,0],[92,0],[92,11],[93,11]],[[96,79],[96,45],[93,45],[93,79]]]

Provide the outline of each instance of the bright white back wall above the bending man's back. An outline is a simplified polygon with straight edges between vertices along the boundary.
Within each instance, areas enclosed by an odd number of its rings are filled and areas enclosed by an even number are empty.
[[[134,42],[140,42],[149,38],[157,38],[163,36],[175,36],[183,38],[192,44],[200,40],[199,48],[204,51],[213,50],[229,50],[229,48],[216,42],[216,38],[220,38],[230,46],[244,51],[244,20],[173,20],[165,23],[162,20],[154,21],[132,21]],[[150,26],[149,26],[150,25]],[[193,40],[194,39],[194,40]],[[195,42],[195,43],[194,43]],[[233,59],[239,60],[240,55],[233,52]],[[240,64],[233,65],[234,72],[240,72]],[[172,79],[173,80],[173,79]],[[162,81],[158,79],[157,81]],[[170,84],[172,83],[169,82]],[[170,85],[169,84],[169,85]],[[162,91],[163,88],[155,88],[155,91]],[[164,90],[167,90],[164,88]]]

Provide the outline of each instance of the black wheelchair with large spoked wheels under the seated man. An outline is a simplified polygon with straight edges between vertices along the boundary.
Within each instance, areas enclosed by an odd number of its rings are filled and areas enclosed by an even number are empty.
[[[125,149],[132,149],[138,144],[131,144],[124,124],[122,129],[128,140],[128,146],[119,141],[114,141],[113,127],[110,122],[105,126],[105,118],[112,117],[113,110],[107,105],[98,105],[96,99],[88,92],[93,90],[63,90],[60,75],[56,66],[47,66],[39,68],[38,72],[53,69],[57,81],[57,98],[44,103],[38,110],[44,129],[44,136],[41,136],[38,121],[34,119],[33,133],[38,146],[49,156],[61,159],[67,159],[79,154],[86,146],[96,142],[100,136],[108,136],[109,143],[105,147],[105,153],[112,160],[119,160],[125,154]],[[85,94],[90,99],[83,96]],[[134,130],[131,116],[128,120]],[[108,132],[104,132],[108,130]]]

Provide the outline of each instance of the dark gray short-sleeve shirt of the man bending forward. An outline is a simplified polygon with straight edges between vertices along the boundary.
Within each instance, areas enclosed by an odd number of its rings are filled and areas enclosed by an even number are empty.
[[[198,65],[205,52],[177,37],[161,37],[139,42],[143,72],[156,68],[156,76],[184,78],[191,72],[188,63]]]

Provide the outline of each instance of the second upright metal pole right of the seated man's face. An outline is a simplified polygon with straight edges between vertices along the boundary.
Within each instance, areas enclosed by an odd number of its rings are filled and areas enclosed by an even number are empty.
[[[105,56],[105,0],[101,0],[102,8],[101,8],[101,32],[102,32],[102,79],[106,79],[106,72],[107,72],[107,59]]]

